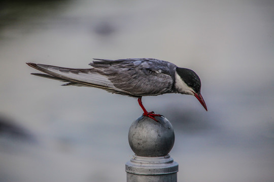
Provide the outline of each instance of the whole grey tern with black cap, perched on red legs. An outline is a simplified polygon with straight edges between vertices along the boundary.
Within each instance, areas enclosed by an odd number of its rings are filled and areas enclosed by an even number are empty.
[[[187,68],[180,68],[173,63],[152,58],[132,59],[93,59],[91,68],[77,69],[51,66],[45,64],[26,63],[44,73],[32,75],[66,82],[62,84],[97,87],[113,94],[138,98],[138,103],[147,116],[155,121],[153,111],[148,112],[143,103],[144,96],[158,96],[168,93],[179,93],[195,96],[206,111],[207,105],[200,93],[199,76]]]

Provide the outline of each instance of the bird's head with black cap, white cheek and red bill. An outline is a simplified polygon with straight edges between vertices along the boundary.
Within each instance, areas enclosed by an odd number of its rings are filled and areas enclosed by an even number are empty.
[[[187,68],[176,68],[175,89],[180,94],[195,96],[205,110],[208,111],[207,105],[200,93],[201,80],[199,76],[192,70]]]

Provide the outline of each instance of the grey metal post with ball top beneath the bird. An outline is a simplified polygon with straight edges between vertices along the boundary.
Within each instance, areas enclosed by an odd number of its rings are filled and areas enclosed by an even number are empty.
[[[156,119],[141,116],[129,128],[135,155],[125,165],[127,182],[177,181],[178,163],[168,154],[175,142],[173,126],[166,118]]]

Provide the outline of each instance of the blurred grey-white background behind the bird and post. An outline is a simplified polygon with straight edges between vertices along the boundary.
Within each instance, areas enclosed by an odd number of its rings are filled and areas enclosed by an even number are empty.
[[[30,75],[156,58],[194,70],[195,97],[145,97],[174,126],[178,181],[274,181],[274,2],[1,1],[0,181],[126,181],[135,99]]]

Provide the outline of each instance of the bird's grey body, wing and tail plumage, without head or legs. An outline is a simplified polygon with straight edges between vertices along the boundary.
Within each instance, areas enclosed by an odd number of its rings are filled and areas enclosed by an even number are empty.
[[[174,93],[177,66],[157,59],[94,59],[89,69],[72,69],[27,63],[47,74],[37,76],[68,82],[64,85],[83,85],[106,89],[130,97],[157,96]]]

